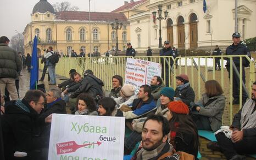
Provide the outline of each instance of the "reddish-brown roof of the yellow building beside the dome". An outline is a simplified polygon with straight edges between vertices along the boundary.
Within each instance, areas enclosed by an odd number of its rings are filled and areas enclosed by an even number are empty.
[[[89,21],[88,11],[59,11],[56,13],[57,20],[65,21]],[[123,13],[107,13],[107,12],[91,12],[91,21],[114,22],[118,19],[119,22],[127,23],[127,18]]]

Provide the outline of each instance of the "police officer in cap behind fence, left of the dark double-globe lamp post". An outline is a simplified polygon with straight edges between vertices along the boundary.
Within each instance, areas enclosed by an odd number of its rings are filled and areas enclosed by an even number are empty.
[[[172,55],[172,49],[170,46],[170,42],[168,40],[165,40],[164,42],[164,48],[160,50],[160,56],[171,56]],[[169,58],[161,58],[161,64],[162,64],[162,78],[165,80],[165,85],[169,87]],[[165,64],[164,64],[165,61]],[[170,66],[174,64],[174,61],[172,58],[170,58]],[[165,68],[165,78],[164,78],[164,68]]]

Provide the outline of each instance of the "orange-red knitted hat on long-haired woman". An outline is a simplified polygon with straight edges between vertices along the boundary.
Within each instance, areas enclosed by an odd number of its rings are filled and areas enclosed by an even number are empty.
[[[168,104],[168,109],[176,114],[188,114],[190,110],[188,106],[181,101],[172,101]]]

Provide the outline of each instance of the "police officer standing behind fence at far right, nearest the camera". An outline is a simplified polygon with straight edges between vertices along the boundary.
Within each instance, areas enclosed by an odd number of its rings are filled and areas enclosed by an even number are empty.
[[[241,35],[238,32],[235,32],[232,34],[232,40],[233,44],[228,46],[226,49],[227,55],[248,55],[249,58],[251,58],[251,54],[247,48],[246,45],[241,44]],[[235,64],[238,72],[240,72],[240,57],[233,57],[233,63]],[[249,61],[246,59],[246,57],[243,57],[242,59],[242,79],[244,84],[246,84],[246,74],[244,71],[244,67],[249,66]],[[227,71],[229,72],[229,78],[230,78],[230,59],[227,59]],[[233,71],[233,104],[239,104],[239,85],[240,85],[240,78],[236,75],[235,71]],[[246,102],[246,99],[248,98],[246,91],[243,89],[242,91],[242,100],[243,103]]]

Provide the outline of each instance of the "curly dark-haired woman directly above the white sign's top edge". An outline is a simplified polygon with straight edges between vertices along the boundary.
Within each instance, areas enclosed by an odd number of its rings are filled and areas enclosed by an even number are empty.
[[[89,115],[97,116],[96,102],[94,99],[86,93],[81,93],[77,96],[77,108],[75,115]]]

